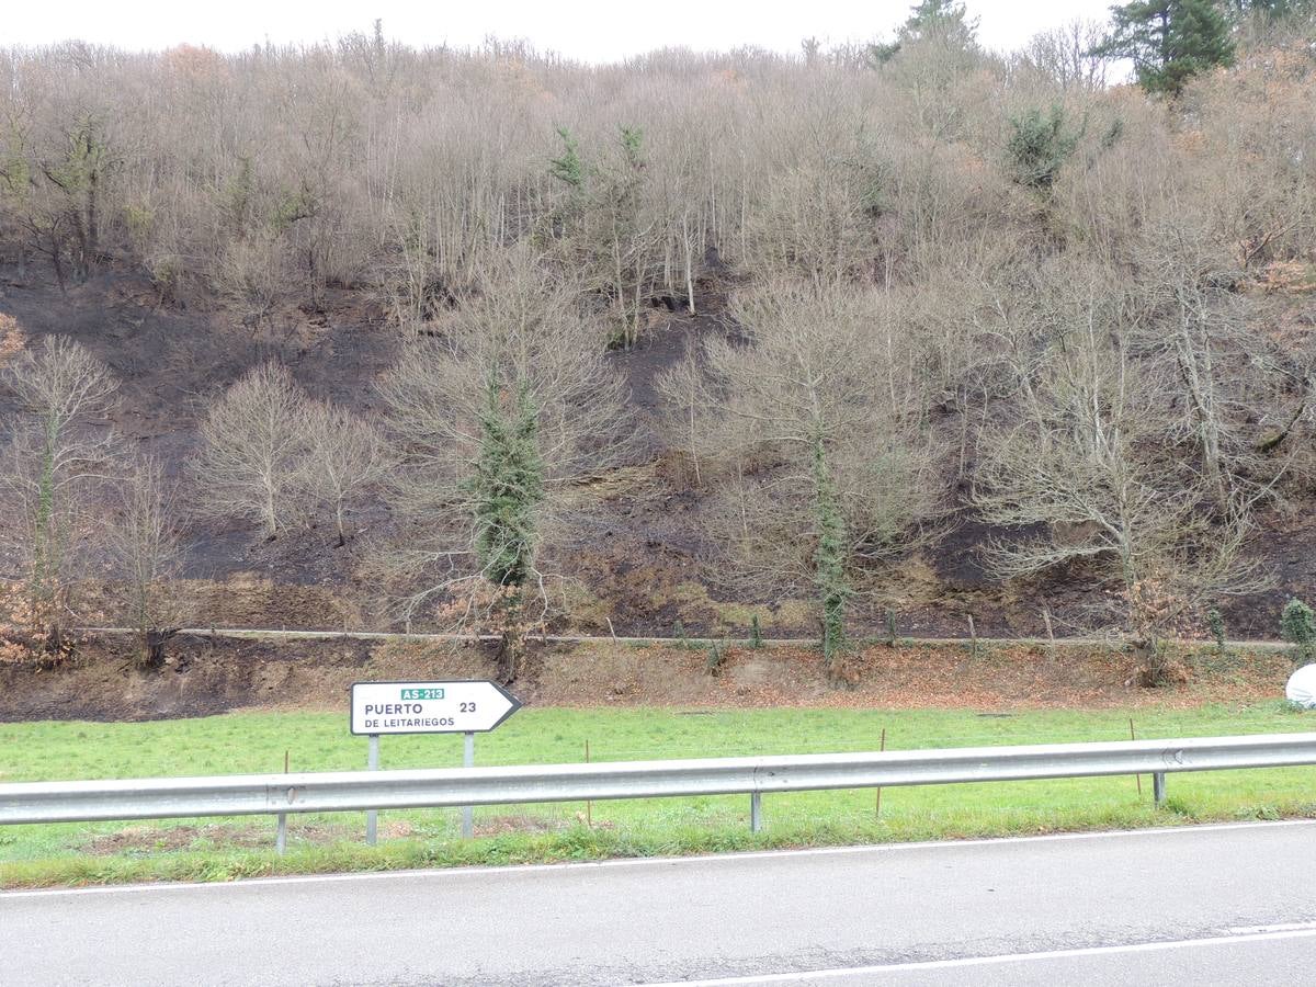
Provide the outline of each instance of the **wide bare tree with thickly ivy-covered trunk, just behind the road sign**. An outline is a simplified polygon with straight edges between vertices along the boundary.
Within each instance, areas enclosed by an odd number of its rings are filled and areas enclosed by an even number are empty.
[[[386,566],[407,621],[458,601],[492,619],[500,675],[519,672],[529,609],[546,612],[542,544],[569,484],[615,459],[622,384],[605,332],[525,247],[499,258],[441,338],[413,343],[380,383],[403,459],[392,503],[408,545]]]

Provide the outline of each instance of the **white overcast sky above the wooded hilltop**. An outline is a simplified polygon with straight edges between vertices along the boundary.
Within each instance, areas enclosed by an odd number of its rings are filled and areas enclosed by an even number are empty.
[[[587,62],[658,47],[720,50],[741,45],[797,51],[805,37],[859,41],[890,36],[911,0],[8,0],[0,45],[80,39],[125,49],[180,42],[233,51],[253,43],[311,42],[368,32],[417,47],[479,45],[486,36],[526,38]],[[1111,0],[967,0],[979,39],[1013,49],[1075,17],[1104,21]]]

